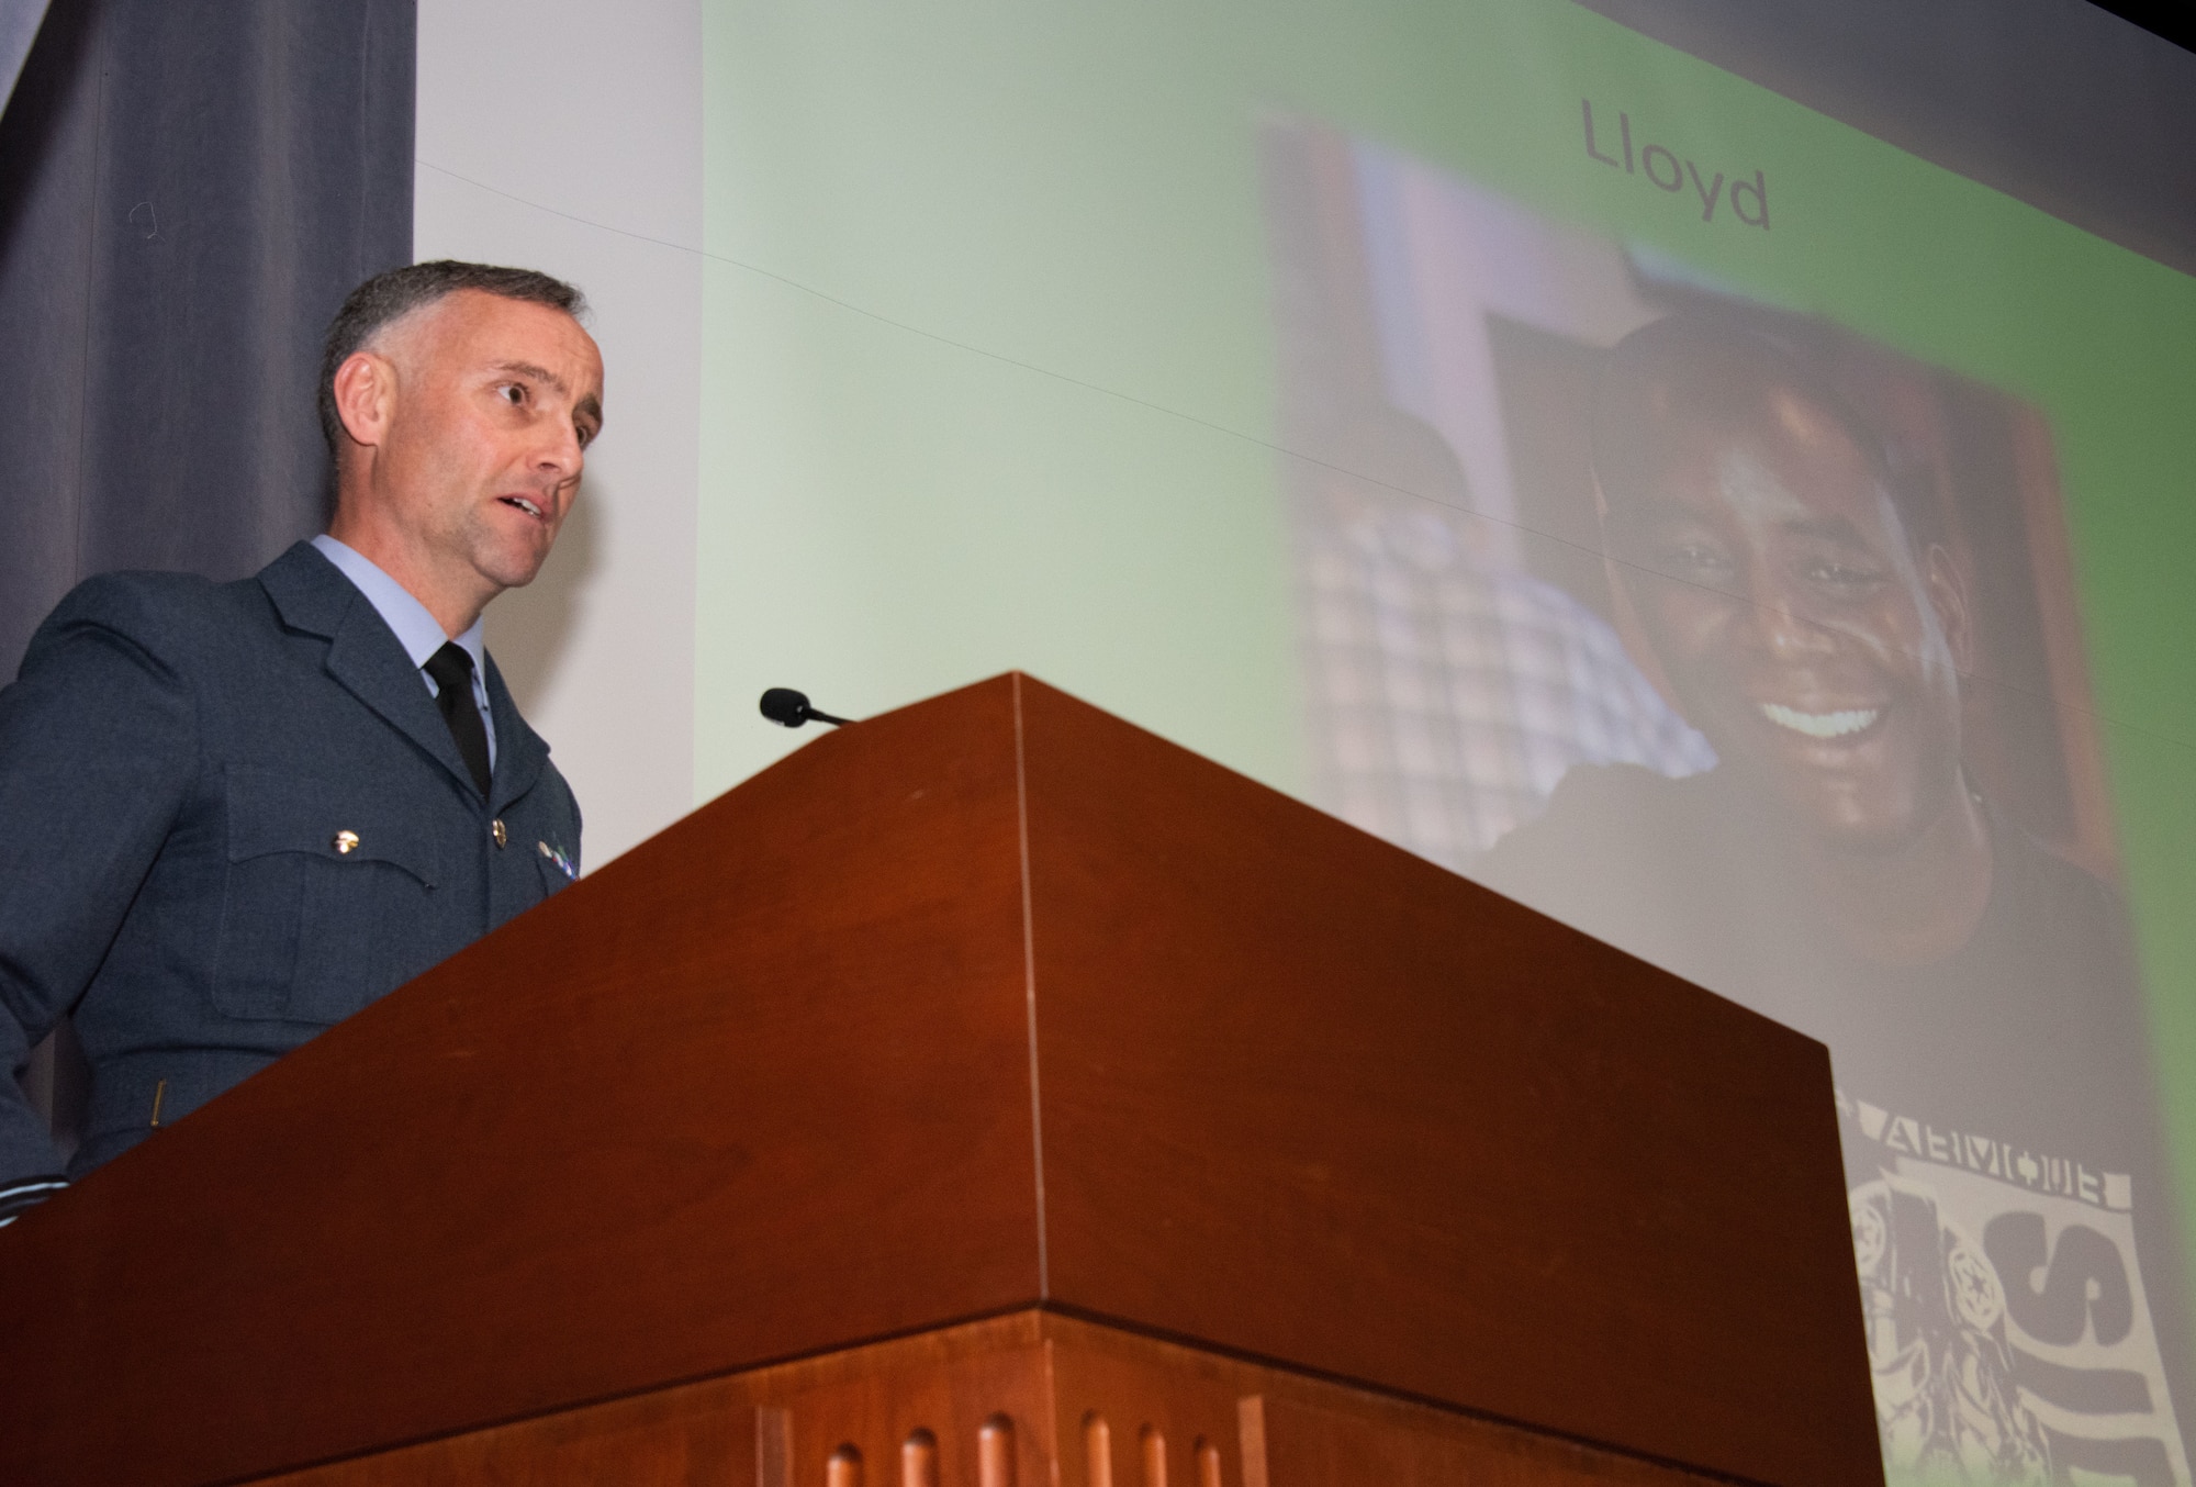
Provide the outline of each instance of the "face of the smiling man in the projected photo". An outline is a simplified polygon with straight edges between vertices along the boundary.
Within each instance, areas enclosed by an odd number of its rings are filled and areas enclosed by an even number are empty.
[[[1957,797],[1965,604],[1818,406],[1680,437],[1610,543],[1684,716],[1805,830],[1911,841]]]

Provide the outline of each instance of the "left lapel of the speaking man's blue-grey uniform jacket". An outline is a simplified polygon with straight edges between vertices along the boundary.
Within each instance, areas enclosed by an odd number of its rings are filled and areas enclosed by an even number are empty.
[[[327,674],[351,696],[371,707],[389,727],[411,738],[479,800],[472,771],[457,753],[450,727],[435,709],[435,698],[419,681],[419,668],[404,655],[395,633],[382,622],[367,595],[358,593],[343,571],[323,558],[312,543],[296,543],[259,571],[283,624],[305,635],[327,639]],[[514,714],[516,716],[516,714]],[[496,738],[503,718],[496,716]],[[503,769],[498,762],[496,778]]]

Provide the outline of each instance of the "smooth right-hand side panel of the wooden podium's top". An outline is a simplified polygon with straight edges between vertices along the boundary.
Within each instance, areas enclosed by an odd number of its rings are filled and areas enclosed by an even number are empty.
[[[1823,1046],[1061,692],[1023,716],[1050,1296],[1880,1472]]]

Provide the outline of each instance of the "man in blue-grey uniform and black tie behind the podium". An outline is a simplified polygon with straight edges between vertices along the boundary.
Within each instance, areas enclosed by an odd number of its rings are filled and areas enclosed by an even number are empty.
[[[483,264],[327,332],[329,532],[213,584],[108,573],[0,692],[0,1052],[72,1017],[66,1164],[0,1081],[0,1221],[534,907],[580,808],[481,641],[602,428],[580,292]]]

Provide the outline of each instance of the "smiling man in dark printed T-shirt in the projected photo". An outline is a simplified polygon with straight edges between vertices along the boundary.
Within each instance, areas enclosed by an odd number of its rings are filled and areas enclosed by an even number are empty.
[[[1737,316],[1618,343],[1590,441],[1616,613],[1717,767],[1575,767],[1474,876],[1829,1046],[1886,1461],[2170,1480],[2181,1259],[2126,909],[1970,778],[1932,503]]]

